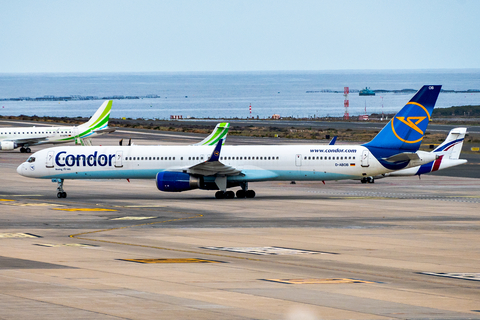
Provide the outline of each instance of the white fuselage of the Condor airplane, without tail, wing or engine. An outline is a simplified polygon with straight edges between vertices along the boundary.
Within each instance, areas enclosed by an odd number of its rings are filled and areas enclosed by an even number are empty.
[[[33,154],[19,174],[59,179],[155,179],[161,171],[184,171],[210,157],[214,146],[54,147]],[[228,181],[342,180],[385,169],[358,145],[223,146],[219,161],[241,170]]]

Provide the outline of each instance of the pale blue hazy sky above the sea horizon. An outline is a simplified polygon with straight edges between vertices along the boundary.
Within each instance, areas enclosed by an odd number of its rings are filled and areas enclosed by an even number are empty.
[[[0,73],[480,68],[480,1],[0,0]]]

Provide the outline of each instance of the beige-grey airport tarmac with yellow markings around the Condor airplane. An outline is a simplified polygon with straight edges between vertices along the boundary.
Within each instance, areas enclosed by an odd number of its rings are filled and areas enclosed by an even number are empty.
[[[202,139],[138,132],[93,142]],[[227,139],[242,141],[278,140]],[[469,156],[470,177],[266,182],[223,200],[69,180],[57,199],[55,183],[17,175],[28,155],[2,152],[0,319],[480,319]]]

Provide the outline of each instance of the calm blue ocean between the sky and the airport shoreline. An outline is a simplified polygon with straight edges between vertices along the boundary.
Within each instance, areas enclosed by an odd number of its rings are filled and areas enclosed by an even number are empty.
[[[344,114],[343,88],[349,113],[395,113],[413,93],[359,96],[358,90],[418,90],[441,84],[444,90],[480,90],[480,69],[385,71],[284,71],[192,73],[62,73],[0,74],[0,99],[45,96],[138,96],[114,99],[111,117],[183,118],[312,118]],[[335,92],[336,91],[336,92]],[[159,98],[148,98],[158,96]],[[89,117],[102,100],[0,101],[0,115]],[[251,105],[251,113],[250,113]],[[441,93],[437,107],[480,105],[480,92]]]

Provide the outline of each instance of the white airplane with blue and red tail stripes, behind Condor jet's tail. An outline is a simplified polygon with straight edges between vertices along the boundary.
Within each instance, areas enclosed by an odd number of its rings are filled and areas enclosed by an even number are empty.
[[[398,176],[419,176],[422,174],[435,172],[442,169],[455,167],[468,161],[466,159],[459,159],[460,152],[462,152],[463,141],[467,134],[467,128],[454,128],[450,130],[447,138],[438,147],[436,147],[431,153],[438,155],[437,160],[423,164],[421,166],[402,169],[398,171],[392,171],[384,173],[382,175],[372,177],[375,179],[382,179],[386,177],[398,177]],[[373,181],[365,181],[373,182]],[[362,183],[365,183],[362,180]]]

